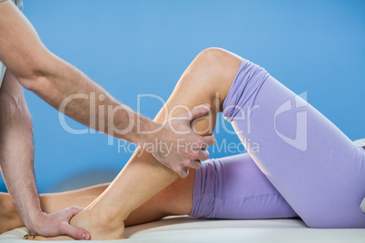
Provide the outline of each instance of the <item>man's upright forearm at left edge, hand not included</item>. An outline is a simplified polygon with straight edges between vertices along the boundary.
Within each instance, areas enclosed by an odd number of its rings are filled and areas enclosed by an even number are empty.
[[[25,226],[41,212],[35,184],[32,121],[22,87],[8,73],[0,90],[0,165]],[[26,199],[26,200],[25,200]]]

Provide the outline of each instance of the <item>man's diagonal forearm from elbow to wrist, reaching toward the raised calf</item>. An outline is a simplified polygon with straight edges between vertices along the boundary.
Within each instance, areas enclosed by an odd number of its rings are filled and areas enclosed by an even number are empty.
[[[55,109],[90,128],[118,139],[141,143],[158,124],[118,102],[88,76],[50,54],[28,88]]]

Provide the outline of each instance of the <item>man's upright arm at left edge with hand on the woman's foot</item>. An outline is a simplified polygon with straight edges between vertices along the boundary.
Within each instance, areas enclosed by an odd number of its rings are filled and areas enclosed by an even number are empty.
[[[30,234],[69,235],[88,239],[69,219],[80,209],[69,208],[47,215],[41,211],[35,184],[33,127],[23,88],[7,71],[0,89],[0,169],[7,189]],[[83,237],[84,234],[84,237]]]

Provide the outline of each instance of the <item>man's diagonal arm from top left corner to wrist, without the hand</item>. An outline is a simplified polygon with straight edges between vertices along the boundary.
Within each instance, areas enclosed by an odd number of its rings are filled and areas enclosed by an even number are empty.
[[[142,131],[158,127],[117,102],[73,65],[50,53],[32,24],[11,2],[0,3],[0,60],[25,88],[95,130],[139,143],[148,138],[138,133],[138,119]],[[77,95],[81,98],[75,98]],[[105,114],[100,113],[101,106]]]

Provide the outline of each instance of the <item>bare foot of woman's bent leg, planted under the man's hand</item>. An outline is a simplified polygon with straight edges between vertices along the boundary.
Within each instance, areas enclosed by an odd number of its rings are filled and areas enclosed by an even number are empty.
[[[107,240],[124,238],[123,220],[108,218],[103,213],[98,213],[93,209],[84,209],[71,219],[70,224],[76,228],[83,228],[91,235],[93,240]],[[74,240],[67,236],[44,238],[41,236],[25,236],[29,240]]]

